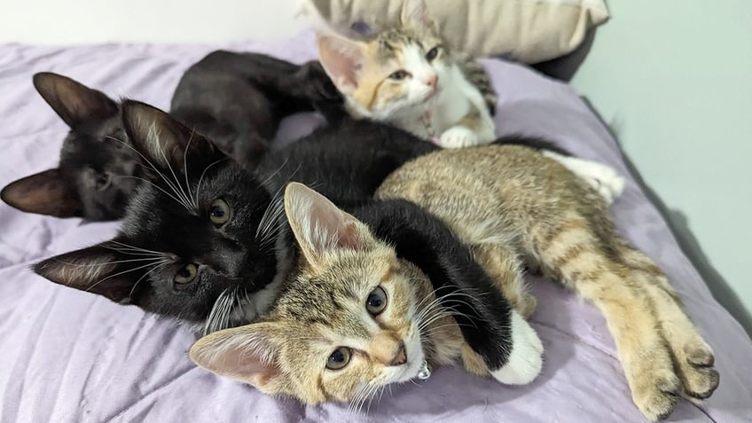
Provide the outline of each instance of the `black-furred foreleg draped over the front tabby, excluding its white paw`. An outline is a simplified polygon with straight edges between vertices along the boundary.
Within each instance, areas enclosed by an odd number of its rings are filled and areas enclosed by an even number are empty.
[[[437,294],[446,294],[443,306],[456,310],[453,316],[467,344],[491,370],[506,364],[512,352],[512,308],[444,223],[406,200],[374,201],[352,214],[395,246],[398,256],[418,266]]]

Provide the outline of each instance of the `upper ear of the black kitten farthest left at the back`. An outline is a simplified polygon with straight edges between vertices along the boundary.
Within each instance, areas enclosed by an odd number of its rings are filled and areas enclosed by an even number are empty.
[[[106,119],[117,114],[117,103],[98,90],[60,74],[42,72],[34,75],[34,86],[71,129],[85,121]]]

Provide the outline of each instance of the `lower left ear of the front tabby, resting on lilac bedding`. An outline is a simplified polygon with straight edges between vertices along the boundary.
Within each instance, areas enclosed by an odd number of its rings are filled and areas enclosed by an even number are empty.
[[[193,344],[188,356],[195,364],[259,388],[280,393],[276,324],[255,323],[210,333]]]

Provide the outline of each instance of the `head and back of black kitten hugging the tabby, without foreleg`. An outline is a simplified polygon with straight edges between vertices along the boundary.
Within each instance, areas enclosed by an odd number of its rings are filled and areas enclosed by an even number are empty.
[[[209,330],[245,323],[273,300],[294,254],[279,236],[287,181],[316,186],[341,205],[364,204],[392,170],[435,150],[399,129],[347,121],[268,153],[251,175],[152,106],[126,101],[122,121],[150,184],[134,195],[112,241],[35,271],[115,302],[208,322]]]

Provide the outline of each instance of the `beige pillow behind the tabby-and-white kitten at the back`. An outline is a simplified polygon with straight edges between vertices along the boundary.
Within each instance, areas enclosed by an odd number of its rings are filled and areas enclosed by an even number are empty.
[[[372,32],[399,22],[403,0],[303,0],[319,24],[348,34],[356,22]],[[563,56],[588,28],[608,19],[604,0],[426,0],[452,47],[476,56],[509,54],[524,63]]]

